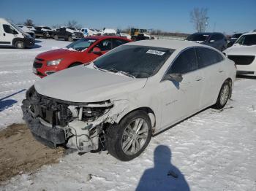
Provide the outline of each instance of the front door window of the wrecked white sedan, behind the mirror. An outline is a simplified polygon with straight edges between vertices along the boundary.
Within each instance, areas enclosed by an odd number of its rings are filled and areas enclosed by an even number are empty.
[[[186,74],[189,71],[197,69],[197,58],[195,55],[195,48],[189,48],[181,52],[178,58],[173,62],[173,65],[167,71],[167,74]]]

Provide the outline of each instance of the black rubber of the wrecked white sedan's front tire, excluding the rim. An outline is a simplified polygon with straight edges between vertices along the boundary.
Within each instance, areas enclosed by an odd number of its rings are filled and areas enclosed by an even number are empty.
[[[129,122],[135,120],[136,118],[143,118],[143,120],[147,122],[148,136],[146,138],[145,144],[143,145],[139,152],[135,153],[135,155],[126,155],[121,148],[121,139],[124,130],[129,124]],[[110,155],[116,157],[118,160],[121,161],[129,161],[134,159],[135,157],[138,157],[143,152],[143,150],[146,149],[146,147],[148,146],[148,143],[151,140],[152,135],[151,120],[146,112],[138,110],[127,114],[127,116],[124,117],[118,125],[110,125],[110,127],[106,131],[107,133],[105,144]]]

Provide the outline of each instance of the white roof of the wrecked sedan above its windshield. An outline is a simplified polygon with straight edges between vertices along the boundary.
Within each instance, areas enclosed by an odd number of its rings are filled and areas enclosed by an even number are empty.
[[[159,40],[142,40],[136,42],[130,42],[129,45],[140,45],[140,46],[148,46],[148,47],[163,47],[170,49],[184,49],[186,47],[206,47],[203,44],[199,44],[191,41],[182,41],[182,40],[167,40],[167,39],[159,39]]]

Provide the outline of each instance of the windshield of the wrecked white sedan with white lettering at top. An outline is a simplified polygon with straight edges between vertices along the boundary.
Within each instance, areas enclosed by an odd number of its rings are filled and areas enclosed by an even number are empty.
[[[124,45],[102,55],[94,65],[106,71],[147,78],[157,74],[173,52],[173,49],[162,47]]]

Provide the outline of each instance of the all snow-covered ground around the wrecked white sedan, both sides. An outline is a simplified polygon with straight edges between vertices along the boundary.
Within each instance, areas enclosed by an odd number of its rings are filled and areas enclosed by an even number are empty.
[[[38,79],[31,73],[35,55],[67,44],[40,41],[42,47],[33,50],[0,49],[0,99],[30,87]],[[1,100],[12,101],[0,112],[0,128],[22,122],[20,101],[24,93]],[[73,152],[59,164],[13,177],[0,190],[114,191],[137,187],[256,190],[256,79],[236,81],[233,98],[225,109],[206,109],[155,136],[135,160],[124,163],[107,152],[82,156]]]

